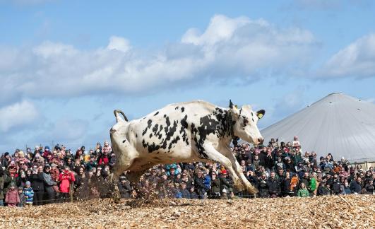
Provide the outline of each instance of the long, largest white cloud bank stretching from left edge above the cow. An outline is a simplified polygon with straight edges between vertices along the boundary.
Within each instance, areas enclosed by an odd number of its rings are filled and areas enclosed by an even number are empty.
[[[292,74],[309,63],[316,49],[309,30],[221,15],[213,16],[203,33],[190,29],[181,42],[157,52],[129,44],[113,36],[107,47],[93,50],[50,41],[30,48],[0,47],[5,59],[0,104],[29,97],[148,93],[207,79],[249,83],[263,75]]]

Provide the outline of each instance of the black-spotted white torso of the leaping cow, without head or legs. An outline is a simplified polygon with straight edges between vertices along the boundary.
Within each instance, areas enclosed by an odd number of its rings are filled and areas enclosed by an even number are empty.
[[[129,138],[141,156],[172,153],[173,157],[189,157],[197,149],[196,142],[210,134],[215,137],[221,122],[215,114],[224,110],[200,100],[167,105],[129,122]]]

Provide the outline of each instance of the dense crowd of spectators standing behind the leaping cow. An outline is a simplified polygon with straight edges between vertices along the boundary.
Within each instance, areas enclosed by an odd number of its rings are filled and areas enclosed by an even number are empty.
[[[258,189],[256,197],[324,196],[374,194],[374,168],[364,171],[345,158],[316,158],[302,153],[298,137],[251,147],[233,142],[232,151],[245,177]],[[89,151],[85,146],[74,153],[66,146],[35,146],[32,151],[16,150],[0,158],[0,206],[42,205],[111,196],[112,167],[116,157],[107,141]],[[122,198],[232,199],[254,195],[239,192],[219,163],[174,163],[157,165],[133,187],[127,171],[118,177]]]

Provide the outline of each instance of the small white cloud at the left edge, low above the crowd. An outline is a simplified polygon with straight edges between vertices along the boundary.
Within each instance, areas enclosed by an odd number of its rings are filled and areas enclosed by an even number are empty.
[[[30,124],[39,116],[32,102],[23,100],[0,108],[0,131],[6,132],[12,127]]]

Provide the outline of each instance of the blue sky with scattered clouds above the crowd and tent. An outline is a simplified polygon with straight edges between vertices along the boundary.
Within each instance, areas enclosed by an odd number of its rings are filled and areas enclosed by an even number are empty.
[[[367,0],[0,0],[0,153],[109,140],[114,109],[249,104],[263,129],[330,93],[375,101]]]

